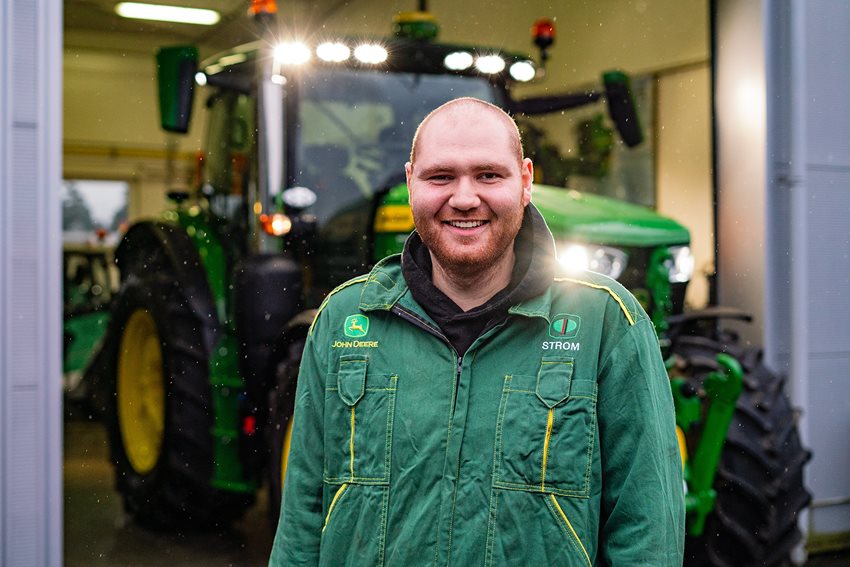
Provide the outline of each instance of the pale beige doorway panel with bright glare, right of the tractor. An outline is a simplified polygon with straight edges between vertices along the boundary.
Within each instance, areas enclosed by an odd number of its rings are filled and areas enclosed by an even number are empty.
[[[738,325],[763,344],[765,281],[765,54],[760,0],[718,0],[718,302],[755,316]],[[734,326],[734,325],[730,325]]]

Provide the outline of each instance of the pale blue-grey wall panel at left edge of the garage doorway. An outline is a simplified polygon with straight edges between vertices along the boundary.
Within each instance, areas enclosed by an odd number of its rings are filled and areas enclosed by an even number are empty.
[[[0,564],[62,564],[61,4],[0,0]]]

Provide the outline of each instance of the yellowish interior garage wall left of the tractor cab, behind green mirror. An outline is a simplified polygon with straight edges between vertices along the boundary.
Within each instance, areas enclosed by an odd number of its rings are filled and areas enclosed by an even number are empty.
[[[159,127],[156,38],[129,44],[109,33],[72,32],[63,57],[63,175],[130,184],[131,217],[155,216],[165,192],[185,190],[205,126],[202,92],[185,136]],[[198,89],[203,91],[203,89]]]

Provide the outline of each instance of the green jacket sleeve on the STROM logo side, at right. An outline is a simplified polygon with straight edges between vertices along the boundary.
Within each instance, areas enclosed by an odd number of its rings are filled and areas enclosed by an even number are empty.
[[[601,563],[682,565],[685,506],[670,383],[652,323],[643,319],[602,360]]]

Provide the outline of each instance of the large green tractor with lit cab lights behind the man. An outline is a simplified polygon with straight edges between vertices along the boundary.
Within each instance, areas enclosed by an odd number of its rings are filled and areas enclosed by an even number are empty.
[[[255,18],[274,27],[272,14]],[[538,29],[545,48],[551,28]],[[430,110],[473,96],[533,115],[604,98],[626,144],[640,143],[622,73],[599,91],[517,99],[512,87],[535,75],[528,57],[438,43],[436,30],[417,13],[381,41],[272,49],[264,38],[200,67],[194,48],[158,54],[167,130],[187,130],[193,80],[211,94],[198,186],[118,246],[121,288],[92,367],[117,488],[138,522],[226,524],[264,482],[276,519],[307,330],[330,290],[401,251],[413,229],[403,164]],[[786,561],[808,454],[781,380],[721,330],[743,315],[683,313],[688,231],[563,188],[536,185],[533,198],[564,269],[619,279],[660,331],[687,455],[688,564]]]

